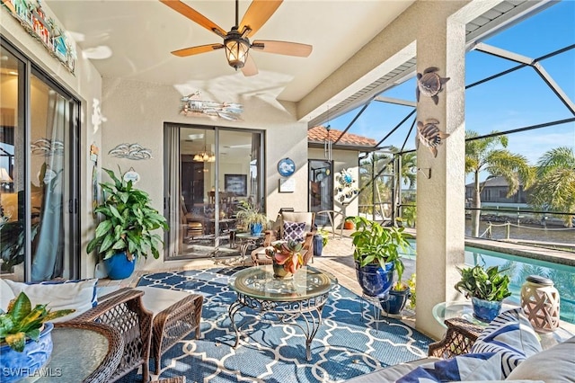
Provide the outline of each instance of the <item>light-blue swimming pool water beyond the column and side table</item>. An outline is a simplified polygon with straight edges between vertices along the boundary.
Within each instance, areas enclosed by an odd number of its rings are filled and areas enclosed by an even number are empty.
[[[415,241],[410,241],[415,249]],[[415,259],[415,251],[403,254],[404,258]],[[528,275],[541,275],[551,279],[555,288],[559,290],[561,299],[560,315],[562,320],[575,324],[575,267],[561,263],[550,263],[537,259],[526,258],[513,254],[506,254],[473,246],[465,246],[464,263],[473,266],[482,264],[486,266],[499,265],[507,269],[511,281],[509,289],[511,297],[508,299],[517,305],[521,300],[521,286]]]

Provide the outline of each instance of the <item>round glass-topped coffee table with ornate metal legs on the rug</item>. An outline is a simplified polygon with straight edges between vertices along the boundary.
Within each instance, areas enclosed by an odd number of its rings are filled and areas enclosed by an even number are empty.
[[[240,329],[261,316],[272,314],[279,322],[296,325],[305,334],[305,358],[311,361],[311,343],[322,324],[322,310],[337,279],[328,272],[311,266],[299,269],[292,279],[276,279],[271,264],[253,266],[235,272],[229,286],[236,293],[236,300],[228,310],[235,332],[235,344],[240,341]],[[258,313],[252,319],[243,318],[236,325],[234,316],[243,308]],[[303,325],[296,319],[302,318]]]

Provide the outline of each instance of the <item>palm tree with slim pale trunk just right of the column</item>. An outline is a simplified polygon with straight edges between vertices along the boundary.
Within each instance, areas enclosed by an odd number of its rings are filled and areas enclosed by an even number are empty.
[[[491,134],[496,134],[492,131]],[[533,169],[527,164],[525,156],[517,155],[506,149],[508,138],[505,135],[476,138],[473,130],[465,132],[465,174],[473,174],[473,198],[471,214],[472,236],[479,236],[479,210],[482,206],[482,183],[479,174],[483,171],[491,176],[501,176],[509,184],[508,198],[519,190],[519,180],[527,189],[533,180]]]

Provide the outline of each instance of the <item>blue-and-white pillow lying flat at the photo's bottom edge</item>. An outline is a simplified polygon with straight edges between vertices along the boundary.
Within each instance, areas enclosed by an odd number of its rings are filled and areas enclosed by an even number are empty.
[[[422,364],[398,379],[397,383],[501,380],[500,364],[500,353],[467,353],[445,361]]]

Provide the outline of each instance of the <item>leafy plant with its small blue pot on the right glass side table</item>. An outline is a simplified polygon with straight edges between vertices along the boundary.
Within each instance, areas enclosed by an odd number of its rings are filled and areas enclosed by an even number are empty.
[[[458,270],[461,281],[456,283],[456,290],[463,292],[465,298],[471,297],[474,316],[491,322],[500,314],[503,299],[511,295],[509,276],[499,266],[485,268],[477,264]]]

